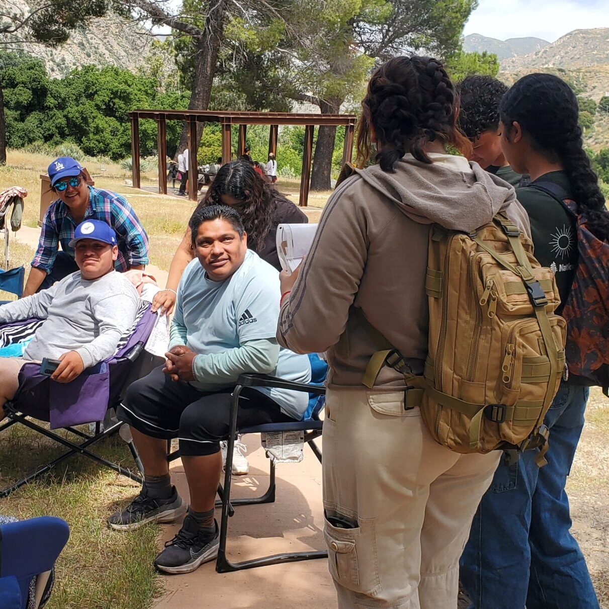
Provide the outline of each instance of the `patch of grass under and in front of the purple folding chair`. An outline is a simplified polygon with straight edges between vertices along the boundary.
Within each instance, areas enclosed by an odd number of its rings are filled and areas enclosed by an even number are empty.
[[[22,426],[0,435],[0,484],[4,487],[58,456],[61,446]],[[132,468],[118,437],[104,440],[100,455]],[[157,526],[132,533],[107,527],[105,519],[138,492],[138,485],[85,457],[72,457],[40,481],[0,499],[0,513],[31,518],[55,515],[71,528],[57,561],[49,609],[147,609],[161,591],[152,561]]]

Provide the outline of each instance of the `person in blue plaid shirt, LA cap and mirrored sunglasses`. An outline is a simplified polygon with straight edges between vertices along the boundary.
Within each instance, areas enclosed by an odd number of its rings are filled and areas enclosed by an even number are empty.
[[[74,260],[74,231],[83,220],[103,220],[116,233],[118,257],[114,269],[144,269],[148,264],[148,235],[132,206],[116,192],[88,186],[82,165],[74,158],[56,158],[48,169],[57,200],[44,214],[38,249],[32,260],[23,296],[51,287],[79,270]],[[62,251],[59,250],[62,246]]]

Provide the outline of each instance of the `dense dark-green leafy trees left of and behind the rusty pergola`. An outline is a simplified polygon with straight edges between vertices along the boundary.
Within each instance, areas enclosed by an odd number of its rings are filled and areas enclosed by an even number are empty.
[[[188,94],[160,92],[155,79],[115,66],[83,66],[63,79],[49,79],[38,59],[5,55],[4,60],[7,139],[12,147],[72,141],[88,155],[118,160],[131,149],[129,111],[188,104]],[[175,152],[180,133],[179,122],[167,122],[167,150],[161,154]],[[141,122],[140,140],[143,155],[157,152],[155,121]]]

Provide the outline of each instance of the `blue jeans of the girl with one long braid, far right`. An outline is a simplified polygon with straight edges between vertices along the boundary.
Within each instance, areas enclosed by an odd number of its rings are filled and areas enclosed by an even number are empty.
[[[582,434],[588,388],[561,383],[547,411],[547,465],[537,451],[505,460],[482,497],[460,560],[470,609],[598,609],[572,537],[566,477]]]

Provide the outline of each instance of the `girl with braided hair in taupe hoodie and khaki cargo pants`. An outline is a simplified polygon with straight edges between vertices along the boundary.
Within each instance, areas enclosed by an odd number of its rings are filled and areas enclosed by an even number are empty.
[[[438,60],[380,66],[357,137],[359,165],[373,149],[376,163],[340,183],[300,271],[280,274],[277,339],[328,354],[325,538],[340,609],[456,607],[459,556],[499,460],[435,442],[401,371],[367,373],[387,342],[423,373],[432,224],[469,233],[504,210],[529,230],[511,186],[446,153],[468,145],[458,107]]]

